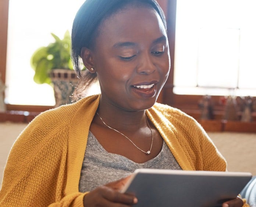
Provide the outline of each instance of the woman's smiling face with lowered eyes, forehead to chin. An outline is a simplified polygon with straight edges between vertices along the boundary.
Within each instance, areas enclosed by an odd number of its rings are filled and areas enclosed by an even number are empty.
[[[129,7],[112,15],[100,25],[94,48],[101,101],[127,111],[154,105],[170,69],[166,30],[155,10]]]

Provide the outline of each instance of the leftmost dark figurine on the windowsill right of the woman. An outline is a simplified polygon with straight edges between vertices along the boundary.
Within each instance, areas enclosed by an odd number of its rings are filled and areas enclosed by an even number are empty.
[[[211,96],[203,96],[203,98],[199,101],[198,106],[201,110],[200,119],[213,119],[213,104],[211,101]]]

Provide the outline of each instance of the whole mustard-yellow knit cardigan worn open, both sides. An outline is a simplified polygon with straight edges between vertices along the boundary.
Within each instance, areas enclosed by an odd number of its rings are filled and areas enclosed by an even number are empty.
[[[13,145],[0,191],[0,206],[83,206],[78,191],[90,123],[99,95],[37,116]],[[226,162],[190,116],[155,104],[147,117],[183,170],[225,171]]]

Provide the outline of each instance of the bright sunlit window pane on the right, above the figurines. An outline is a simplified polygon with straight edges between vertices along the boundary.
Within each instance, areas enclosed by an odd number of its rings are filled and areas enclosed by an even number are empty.
[[[256,96],[255,8],[255,0],[177,0],[176,94]]]

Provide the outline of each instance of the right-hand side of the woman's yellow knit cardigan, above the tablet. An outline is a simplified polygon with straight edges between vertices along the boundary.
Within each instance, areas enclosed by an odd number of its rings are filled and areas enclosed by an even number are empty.
[[[226,170],[223,156],[195,119],[162,104],[146,113],[183,170]]]

